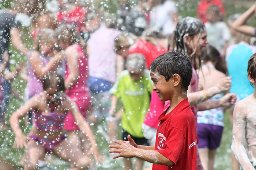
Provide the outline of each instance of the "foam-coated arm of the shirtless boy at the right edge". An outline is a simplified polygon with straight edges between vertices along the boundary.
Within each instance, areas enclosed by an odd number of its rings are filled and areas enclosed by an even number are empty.
[[[246,114],[243,111],[243,107],[240,103],[237,103],[234,108],[234,124],[233,124],[233,141],[231,149],[240,163],[241,167],[246,170],[254,170],[246,149],[244,147],[245,142],[245,129],[246,129]]]

